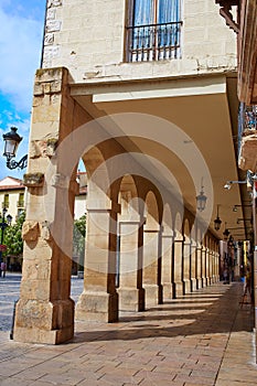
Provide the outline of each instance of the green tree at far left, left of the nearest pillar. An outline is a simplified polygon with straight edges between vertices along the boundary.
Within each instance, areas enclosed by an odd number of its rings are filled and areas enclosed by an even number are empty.
[[[22,212],[17,222],[4,230],[3,244],[7,245],[4,255],[19,256],[23,251],[22,225],[25,221],[25,212]]]

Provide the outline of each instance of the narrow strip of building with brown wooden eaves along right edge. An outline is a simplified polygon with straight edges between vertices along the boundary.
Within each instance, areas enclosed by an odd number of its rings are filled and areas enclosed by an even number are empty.
[[[238,116],[238,165],[251,176],[253,207],[245,217],[253,219],[251,278],[255,309],[257,308],[257,3],[255,0],[216,0],[221,14],[237,35],[238,81],[240,101]],[[234,12],[233,12],[234,10]],[[255,315],[255,331],[257,318]],[[256,341],[257,342],[257,341]]]

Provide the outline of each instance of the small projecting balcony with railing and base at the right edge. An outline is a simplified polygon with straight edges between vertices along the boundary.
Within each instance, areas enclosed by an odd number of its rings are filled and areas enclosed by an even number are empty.
[[[239,107],[238,164],[243,170],[256,171],[257,167],[257,105]]]

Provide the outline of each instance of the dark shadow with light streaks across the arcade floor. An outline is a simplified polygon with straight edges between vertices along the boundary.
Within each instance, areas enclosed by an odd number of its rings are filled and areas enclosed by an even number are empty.
[[[208,291],[212,292],[212,289],[215,290],[217,288],[217,293],[207,294]],[[202,293],[203,291],[204,293]],[[206,300],[203,300],[210,296],[213,297],[212,301],[206,302]],[[242,283],[234,282],[226,287],[222,287],[221,285],[207,287],[200,292],[195,292],[192,298],[185,296],[183,299],[169,301],[162,307],[158,305],[144,312],[126,313],[126,315],[120,317],[119,322],[108,324],[106,330],[103,331],[100,329],[95,330],[96,324],[94,324],[95,331],[77,332],[72,342],[92,342],[96,340],[135,341],[156,336],[226,334],[232,331],[251,332],[254,326],[254,309],[247,304],[240,308],[239,301],[242,300]],[[186,303],[186,308],[184,307],[184,299],[186,299],[186,302],[191,300],[189,304]],[[203,304],[199,304],[200,300],[203,301]],[[169,305],[167,307],[167,304]],[[174,304],[174,307],[170,307],[171,304]],[[154,323],[150,323],[151,321]],[[88,325],[87,323],[87,329]],[[82,328],[83,323],[79,324],[81,330]]]

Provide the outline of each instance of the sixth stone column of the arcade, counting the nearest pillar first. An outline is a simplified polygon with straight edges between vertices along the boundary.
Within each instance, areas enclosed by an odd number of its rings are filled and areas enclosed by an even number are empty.
[[[183,235],[176,232],[173,255],[173,297],[183,294]]]

